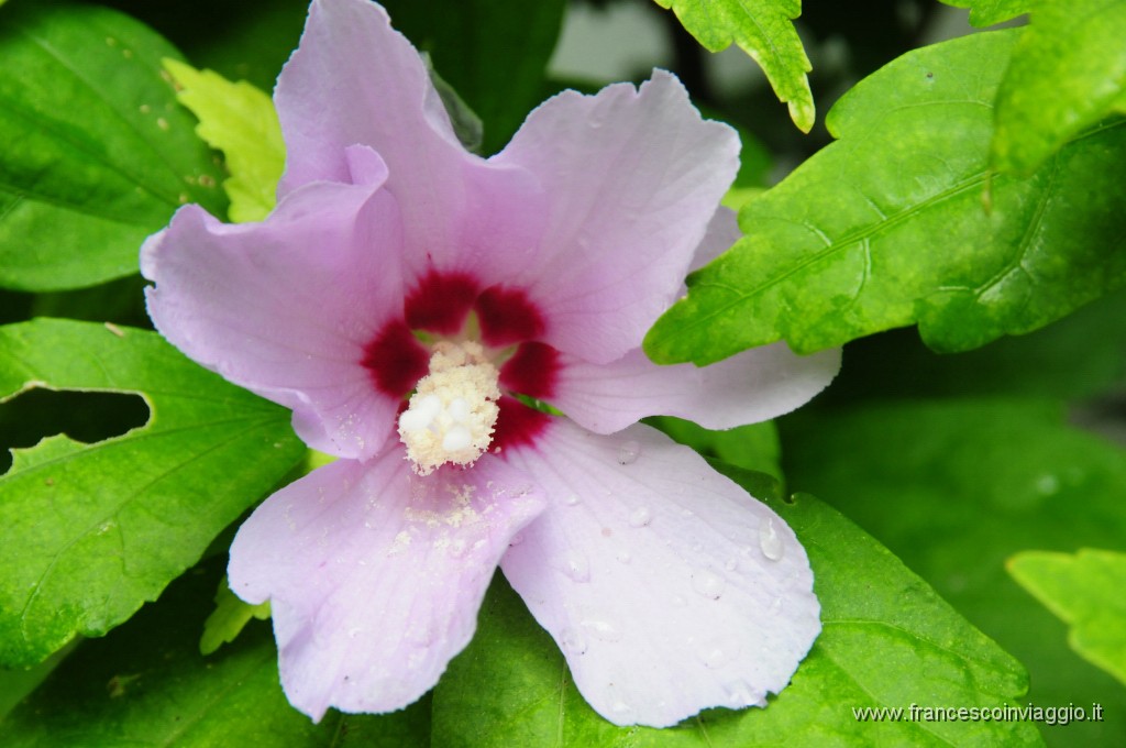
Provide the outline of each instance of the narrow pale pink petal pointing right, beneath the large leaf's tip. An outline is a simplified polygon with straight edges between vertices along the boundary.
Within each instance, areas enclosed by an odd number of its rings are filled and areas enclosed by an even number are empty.
[[[613,434],[646,416],[678,416],[724,429],[805,404],[839,369],[839,348],[798,356],[785,342],[703,368],[658,366],[641,349],[605,365],[564,357],[552,404],[599,434]]]

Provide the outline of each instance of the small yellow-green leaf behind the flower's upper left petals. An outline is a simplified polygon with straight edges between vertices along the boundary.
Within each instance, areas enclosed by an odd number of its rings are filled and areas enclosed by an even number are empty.
[[[181,90],[176,95],[199,119],[196,133],[223,151],[231,177],[223,189],[231,199],[227,216],[234,223],[261,221],[277,202],[285,169],[282,123],[274,101],[245,81],[232,83],[211,70],[164,60]]]

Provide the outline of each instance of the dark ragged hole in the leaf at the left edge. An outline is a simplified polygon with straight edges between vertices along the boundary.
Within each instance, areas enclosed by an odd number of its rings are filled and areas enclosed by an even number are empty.
[[[0,403],[0,474],[11,468],[12,447],[35,446],[56,434],[93,444],[148,422],[149,406],[138,394],[28,390]]]

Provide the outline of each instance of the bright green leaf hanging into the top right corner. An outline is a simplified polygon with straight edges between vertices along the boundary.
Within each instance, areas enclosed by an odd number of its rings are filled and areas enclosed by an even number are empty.
[[[1042,2],[997,95],[993,164],[1030,173],[1115,110],[1126,90],[1126,3]]]

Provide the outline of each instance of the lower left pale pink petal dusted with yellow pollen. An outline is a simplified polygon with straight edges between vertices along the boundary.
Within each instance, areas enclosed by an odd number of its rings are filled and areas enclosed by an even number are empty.
[[[231,546],[231,589],[270,600],[294,706],[399,710],[468,643],[497,562],[543,506],[499,458],[419,478],[395,445],[267,499]]]

